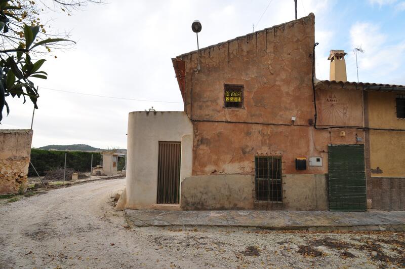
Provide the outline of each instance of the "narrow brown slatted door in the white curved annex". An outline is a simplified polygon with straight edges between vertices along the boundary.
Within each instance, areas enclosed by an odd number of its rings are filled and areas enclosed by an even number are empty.
[[[181,142],[159,142],[157,203],[178,204],[180,199]]]

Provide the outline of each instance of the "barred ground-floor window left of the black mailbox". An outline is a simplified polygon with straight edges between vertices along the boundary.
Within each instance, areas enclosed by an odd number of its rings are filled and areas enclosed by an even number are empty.
[[[255,157],[256,201],[282,202],[281,158]]]

